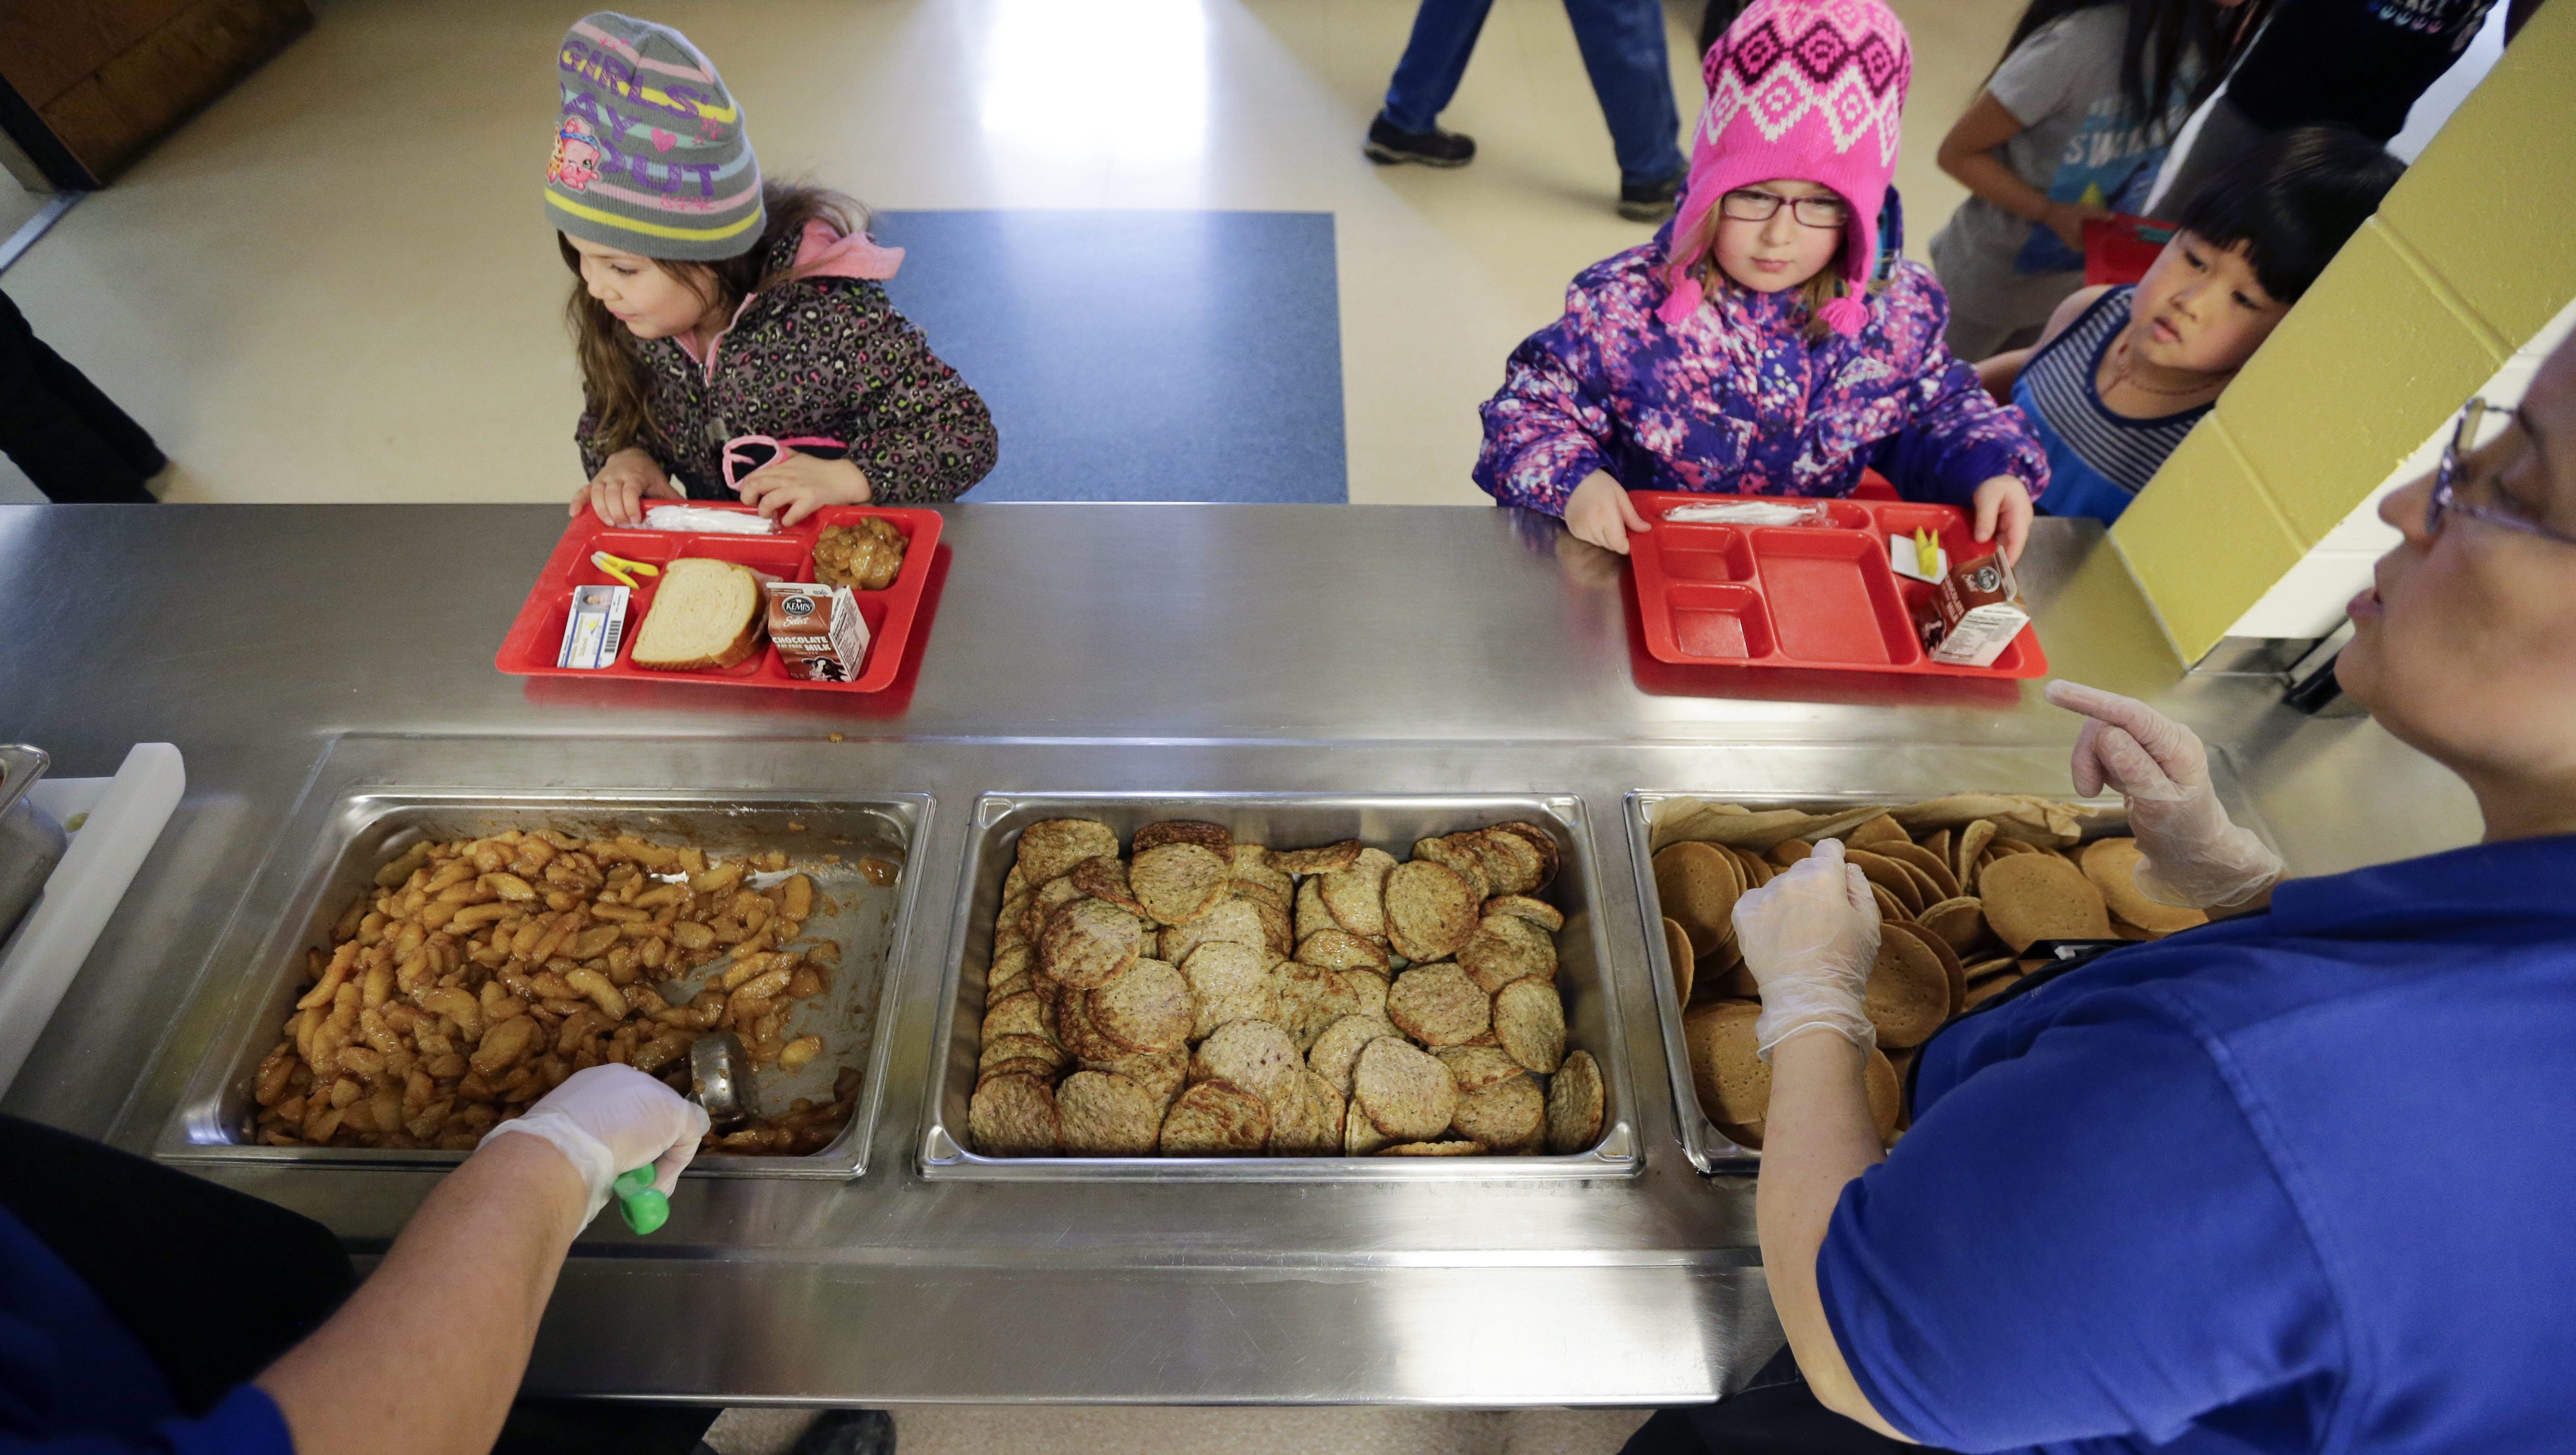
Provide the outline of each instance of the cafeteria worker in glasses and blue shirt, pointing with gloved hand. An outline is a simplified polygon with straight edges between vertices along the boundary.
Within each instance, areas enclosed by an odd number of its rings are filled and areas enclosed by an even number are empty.
[[[2275,883],[2187,729],[2050,685],[2138,886],[2221,919],[1953,1022],[1886,1156],[1868,883],[1826,842],[1747,894],[1795,1367],[1633,1452],[2576,1450],[2576,340],[2380,515],[2336,675],[2483,842]]]

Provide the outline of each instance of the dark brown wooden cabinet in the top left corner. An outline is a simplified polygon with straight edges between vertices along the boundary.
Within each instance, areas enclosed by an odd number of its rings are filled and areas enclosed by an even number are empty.
[[[304,0],[0,0],[0,129],[95,188],[312,23]]]

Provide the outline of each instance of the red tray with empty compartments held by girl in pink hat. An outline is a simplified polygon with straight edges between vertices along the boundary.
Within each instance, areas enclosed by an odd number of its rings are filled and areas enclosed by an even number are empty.
[[[1646,652],[1690,667],[2040,677],[2012,567],[1950,505],[1631,494]]]

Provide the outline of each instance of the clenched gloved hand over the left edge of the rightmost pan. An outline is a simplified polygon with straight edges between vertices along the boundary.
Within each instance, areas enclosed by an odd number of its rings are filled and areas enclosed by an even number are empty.
[[[1770,1061],[1801,1030],[1832,1030],[1878,1046],[1865,997],[1878,961],[1878,896],[1842,840],[1824,840],[1785,873],[1736,899],[1736,948],[1762,986],[1754,1046]]]

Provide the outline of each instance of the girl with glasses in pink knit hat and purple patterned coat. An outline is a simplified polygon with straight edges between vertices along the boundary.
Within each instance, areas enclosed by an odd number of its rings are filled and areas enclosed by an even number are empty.
[[[2017,556],[2048,456],[1942,345],[1932,270],[1878,263],[1911,70],[1880,0],[1752,0],[1703,64],[1680,216],[1512,350],[1476,484],[1625,554],[1631,489],[1834,497],[1878,469]]]

